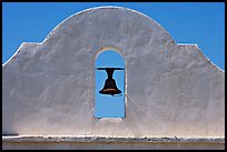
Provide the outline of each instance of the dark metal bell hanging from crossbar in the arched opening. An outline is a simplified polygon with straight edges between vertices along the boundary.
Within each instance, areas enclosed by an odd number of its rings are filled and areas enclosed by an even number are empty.
[[[103,70],[103,69],[99,69],[99,70]],[[112,79],[112,73],[115,70],[119,70],[116,68],[105,68],[107,74],[108,74],[108,79],[106,79],[105,81],[105,87],[102,90],[99,91],[99,93],[101,94],[119,94],[121,93],[121,91],[117,88],[116,85],[116,81],[115,79]]]

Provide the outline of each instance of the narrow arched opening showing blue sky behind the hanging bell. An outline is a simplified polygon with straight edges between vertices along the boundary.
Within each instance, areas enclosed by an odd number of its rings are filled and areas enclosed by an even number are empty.
[[[116,94],[102,91],[108,88],[108,70],[106,68],[115,68],[112,72],[112,81],[120,92]],[[95,118],[125,118],[125,61],[120,53],[112,50],[105,50],[98,54],[95,63],[96,69],[96,101]],[[108,81],[107,81],[108,79]],[[106,89],[109,91],[109,89]]]

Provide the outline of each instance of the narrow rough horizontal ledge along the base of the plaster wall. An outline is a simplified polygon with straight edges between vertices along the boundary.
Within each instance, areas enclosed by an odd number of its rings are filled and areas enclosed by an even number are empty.
[[[100,142],[100,143],[211,143],[225,144],[225,138],[112,138],[86,135],[2,135],[2,143],[12,142]]]

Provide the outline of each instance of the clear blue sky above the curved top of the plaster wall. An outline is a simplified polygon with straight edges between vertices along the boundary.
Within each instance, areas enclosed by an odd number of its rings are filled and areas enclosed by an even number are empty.
[[[41,42],[66,18],[101,6],[126,7],[152,18],[177,43],[198,44],[225,70],[224,2],[3,2],[2,63],[22,42]]]

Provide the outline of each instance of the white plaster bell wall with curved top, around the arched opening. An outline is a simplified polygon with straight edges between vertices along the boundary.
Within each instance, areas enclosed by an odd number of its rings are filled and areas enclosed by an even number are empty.
[[[105,49],[125,59],[125,119],[93,118],[93,64]],[[225,136],[225,72],[139,12],[89,9],[2,65],[2,134]]]

